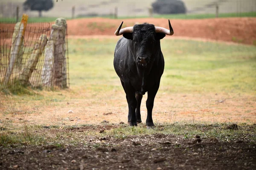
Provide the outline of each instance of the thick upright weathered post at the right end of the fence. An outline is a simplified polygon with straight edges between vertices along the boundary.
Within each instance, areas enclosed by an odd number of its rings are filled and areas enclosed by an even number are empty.
[[[52,25],[52,31],[45,47],[45,60],[42,69],[42,83],[45,86],[67,87],[67,62],[65,59],[65,35],[67,23],[58,18]]]

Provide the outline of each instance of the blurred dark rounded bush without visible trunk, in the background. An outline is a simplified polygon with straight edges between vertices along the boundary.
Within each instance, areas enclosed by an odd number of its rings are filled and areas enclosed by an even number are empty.
[[[157,0],[152,3],[153,12],[157,14],[184,14],[186,6],[181,0]]]

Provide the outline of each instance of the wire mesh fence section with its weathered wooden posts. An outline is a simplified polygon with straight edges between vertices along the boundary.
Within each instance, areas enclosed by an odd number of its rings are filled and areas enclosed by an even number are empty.
[[[67,24],[0,22],[0,91],[69,87]]]

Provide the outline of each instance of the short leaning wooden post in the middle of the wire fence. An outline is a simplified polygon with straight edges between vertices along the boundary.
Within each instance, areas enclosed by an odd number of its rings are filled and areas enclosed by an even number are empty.
[[[29,78],[31,77],[32,72],[35,70],[39,57],[42,55],[44,51],[44,47],[46,46],[46,43],[47,43],[47,36],[41,35],[37,43],[35,43],[34,49],[29,57],[29,60],[27,61],[26,65],[20,72],[19,81],[21,82],[21,84],[23,85],[29,84]]]

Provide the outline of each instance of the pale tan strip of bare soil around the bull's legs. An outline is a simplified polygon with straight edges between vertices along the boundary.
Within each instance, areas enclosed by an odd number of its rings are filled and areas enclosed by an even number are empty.
[[[49,94],[50,95],[50,94]],[[17,126],[26,124],[81,125],[101,124],[102,121],[118,124],[127,122],[128,105],[125,93],[120,91],[76,94],[78,98],[63,101],[47,101],[42,107],[41,101],[31,101],[28,105],[20,101],[4,101],[0,120],[10,121]],[[87,98],[84,100],[83,98]],[[145,123],[147,95],[143,96],[141,118]],[[8,102],[8,103],[6,103]],[[237,122],[256,123],[256,97],[241,94],[166,94],[159,92],[156,96],[153,121],[155,123],[172,123],[176,121],[202,122]],[[69,110],[73,112],[69,113]]]

